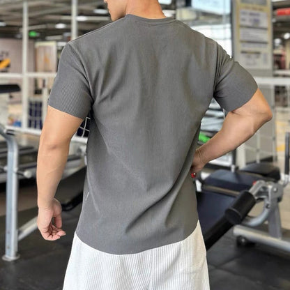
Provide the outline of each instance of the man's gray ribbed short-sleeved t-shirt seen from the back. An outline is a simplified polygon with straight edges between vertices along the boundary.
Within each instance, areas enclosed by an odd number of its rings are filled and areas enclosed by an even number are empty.
[[[128,14],[70,41],[49,105],[91,112],[79,238],[111,254],[187,238],[201,119],[211,98],[231,111],[257,88],[220,45],[173,17]]]

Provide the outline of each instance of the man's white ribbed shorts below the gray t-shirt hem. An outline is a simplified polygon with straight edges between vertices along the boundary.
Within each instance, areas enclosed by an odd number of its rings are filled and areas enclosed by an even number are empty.
[[[109,254],[75,233],[63,290],[209,290],[206,247],[197,227],[183,241],[137,254]]]

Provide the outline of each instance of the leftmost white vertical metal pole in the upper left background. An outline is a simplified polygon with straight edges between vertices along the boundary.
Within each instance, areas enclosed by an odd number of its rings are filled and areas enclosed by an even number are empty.
[[[23,1],[23,18],[22,18],[22,128],[28,127],[28,76],[27,76],[27,60],[28,60],[28,1]]]

